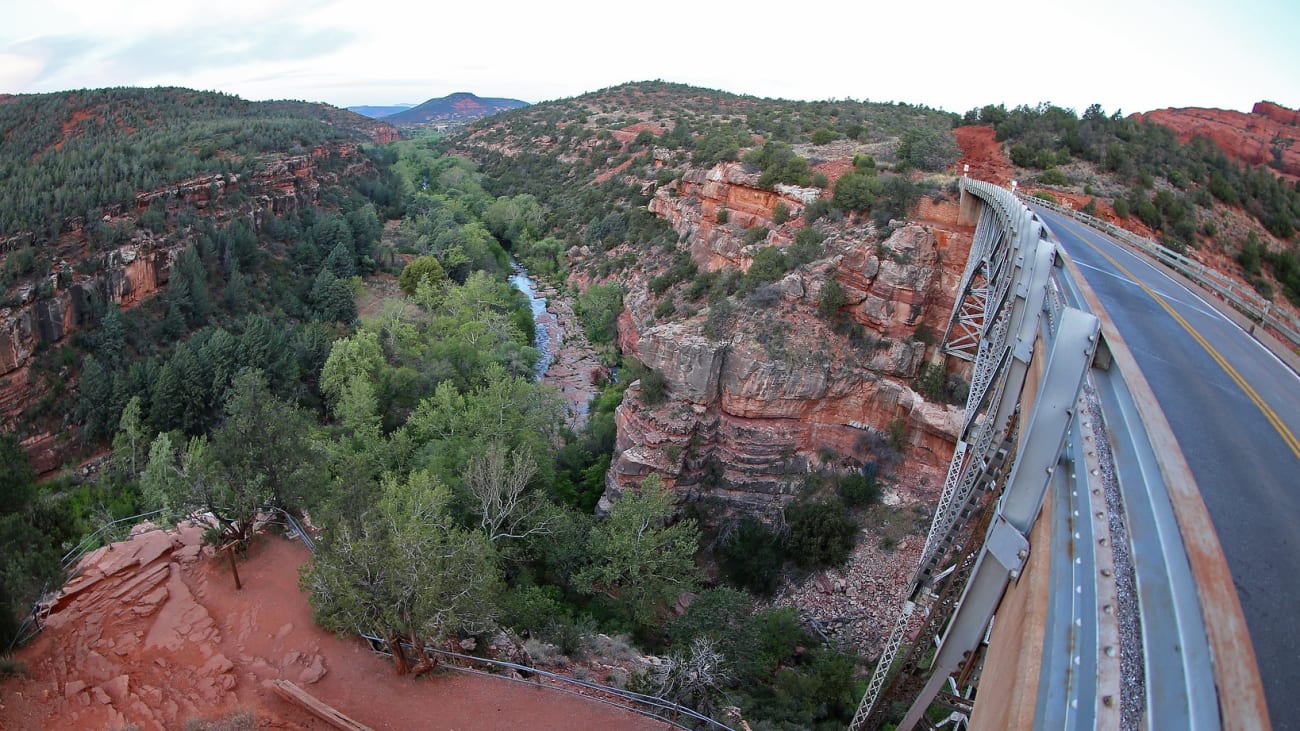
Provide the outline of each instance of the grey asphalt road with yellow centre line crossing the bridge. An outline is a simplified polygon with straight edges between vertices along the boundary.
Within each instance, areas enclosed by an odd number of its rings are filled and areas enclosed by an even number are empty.
[[[1227,557],[1273,726],[1300,728],[1291,705],[1300,689],[1300,377],[1156,265],[1083,224],[1036,212],[1156,393]]]

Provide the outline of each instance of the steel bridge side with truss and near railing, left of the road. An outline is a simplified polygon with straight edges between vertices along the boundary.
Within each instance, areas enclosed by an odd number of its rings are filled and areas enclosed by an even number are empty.
[[[966,418],[852,728],[1268,728],[1223,552],[1131,351],[1011,191],[963,178],[961,206],[941,355],[971,363]]]

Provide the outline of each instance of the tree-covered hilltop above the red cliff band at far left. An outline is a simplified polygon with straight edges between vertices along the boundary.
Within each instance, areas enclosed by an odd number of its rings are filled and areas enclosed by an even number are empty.
[[[312,104],[250,103],[185,88],[101,88],[0,103],[0,238],[39,243],[75,219],[130,209],[148,193],[203,174],[248,176],[268,153],[302,155],[358,139]]]

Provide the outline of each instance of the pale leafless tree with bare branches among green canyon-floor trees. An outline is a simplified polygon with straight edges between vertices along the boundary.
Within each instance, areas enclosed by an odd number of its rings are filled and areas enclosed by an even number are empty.
[[[465,485],[478,502],[478,524],[488,540],[551,532],[554,514],[546,510],[542,496],[528,492],[536,473],[537,460],[526,447],[507,454],[503,445],[493,442],[469,460]]]

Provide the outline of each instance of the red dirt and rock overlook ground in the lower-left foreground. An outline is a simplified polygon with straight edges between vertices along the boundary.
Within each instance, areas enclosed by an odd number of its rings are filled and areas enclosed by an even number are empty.
[[[259,537],[239,561],[237,592],[225,558],[199,538],[198,528],[155,529],[88,557],[18,653],[29,676],[0,684],[0,730],[183,728],[237,710],[260,728],[326,728],[276,696],[274,679],[376,730],[668,728],[528,683],[395,676],[364,641],[312,623],[298,591],[302,544]]]

